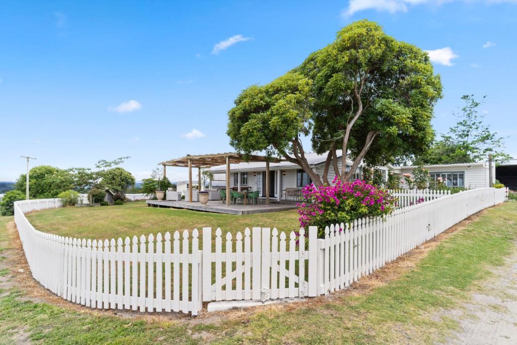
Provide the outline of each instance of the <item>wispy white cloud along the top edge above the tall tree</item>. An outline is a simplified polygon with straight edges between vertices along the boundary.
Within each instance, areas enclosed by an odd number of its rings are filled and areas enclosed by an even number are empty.
[[[488,5],[496,5],[500,3],[515,3],[517,0],[349,0],[348,7],[341,11],[342,17],[350,17],[356,12],[374,9],[382,12],[407,12],[409,6],[428,4],[431,6],[440,6],[444,3],[451,2],[464,3],[485,3]]]

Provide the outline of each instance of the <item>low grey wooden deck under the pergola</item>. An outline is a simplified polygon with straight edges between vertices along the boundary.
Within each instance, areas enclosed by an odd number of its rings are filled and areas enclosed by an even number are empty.
[[[267,212],[278,212],[286,209],[294,209],[296,205],[294,203],[270,203],[258,204],[258,205],[242,205],[232,204],[226,206],[220,201],[208,201],[208,204],[202,205],[200,202],[185,202],[185,201],[158,201],[158,200],[146,200],[147,206],[153,207],[172,207],[172,208],[184,208],[192,209],[194,211],[202,212],[215,212],[215,213],[226,213],[231,215],[251,215],[255,213],[267,213]]]

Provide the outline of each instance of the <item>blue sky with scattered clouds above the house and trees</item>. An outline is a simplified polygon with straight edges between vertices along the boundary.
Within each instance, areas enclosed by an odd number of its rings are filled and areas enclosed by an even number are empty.
[[[60,168],[131,156],[124,167],[141,179],[165,159],[232,151],[239,92],[363,18],[434,51],[437,132],[462,95],[488,95],[485,121],[517,156],[517,1],[19,1],[0,3],[0,181],[24,172],[21,155]]]

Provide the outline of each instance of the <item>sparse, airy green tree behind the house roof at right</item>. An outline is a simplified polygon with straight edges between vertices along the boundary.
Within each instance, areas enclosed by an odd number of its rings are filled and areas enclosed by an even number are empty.
[[[505,138],[497,137],[497,132],[483,124],[484,115],[478,114],[481,103],[474,95],[464,95],[461,99],[465,106],[456,114],[458,123],[417,160],[423,164],[453,164],[485,161],[489,154],[494,159],[512,158],[503,151]]]

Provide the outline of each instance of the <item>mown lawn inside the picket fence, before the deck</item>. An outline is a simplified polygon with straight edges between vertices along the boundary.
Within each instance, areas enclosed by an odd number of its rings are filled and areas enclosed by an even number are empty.
[[[276,227],[280,231],[299,228],[296,210],[253,215],[227,215],[188,209],[147,207],[145,202],[122,206],[65,207],[27,215],[38,230],[80,238],[117,238],[176,230],[217,227],[223,233],[244,231],[246,227]]]

